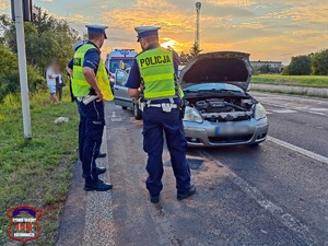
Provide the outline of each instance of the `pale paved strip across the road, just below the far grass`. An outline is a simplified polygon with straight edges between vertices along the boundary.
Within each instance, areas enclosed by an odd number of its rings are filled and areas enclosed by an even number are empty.
[[[250,90],[259,89],[272,92],[294,92],[302,95],[312,95],[312,96],[327,96],[328,89],[326,87],[303,87],[303,86],[289,86],[289,85],[273,85],[273,84],[250,84]]]

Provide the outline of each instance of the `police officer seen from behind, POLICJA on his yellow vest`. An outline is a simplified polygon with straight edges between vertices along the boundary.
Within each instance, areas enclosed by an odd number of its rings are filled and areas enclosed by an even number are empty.
[[[160,201],[163,188],[163,132],[176,178],[177,199],[183,200],[196,192],[196,187],[190,185],[190,169],[186,162],[180,90],[175,80],[178,56],[160,46],[159,30],[157,26],[136,27],[143,51],[136,57],[126,84],[129,96],[138,97],[141,93],[144,101],[143,149],[149,156],[147,188],[153,203]]]

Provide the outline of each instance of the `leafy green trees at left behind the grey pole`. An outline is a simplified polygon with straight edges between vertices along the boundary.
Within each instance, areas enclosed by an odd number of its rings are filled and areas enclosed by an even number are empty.
[[[57,20],[43,9],[36,8],[33,22],[24,23],[28,89],[44,89],[45,69],[56,60],[63,69],[73,56],[72,44],[78,32],[67,21]],[[0,103],[10,93],[20,90],[16,31],[11,19],[0,15]]]

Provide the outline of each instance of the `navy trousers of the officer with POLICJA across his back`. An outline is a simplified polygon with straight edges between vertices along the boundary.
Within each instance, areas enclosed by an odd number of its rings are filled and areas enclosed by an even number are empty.
[[[163,144],[164,134],[171,155],[173,172],[178,192],[190,188],[190,168],[186,162],[187,141],[179,109],[164,113],[162,108],[145,107],[143,110],[143,150],[148,153],[147,188],[152,196],[163,189]]]

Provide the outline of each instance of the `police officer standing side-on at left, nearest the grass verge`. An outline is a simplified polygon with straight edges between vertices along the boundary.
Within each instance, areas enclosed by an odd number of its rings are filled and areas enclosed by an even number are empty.
[[[84,190],[112,189],[98,178],[106,172],[96,166],[105,126],[104,102],[113,101],[108,75],[101,59],[101,48],[107,38],[103,25],[86,25],[89,42],[80,46],[72,62],[72,91],[80,113],[79,149],[82,161]],[[70,67],[70,66],[69,66]]]

